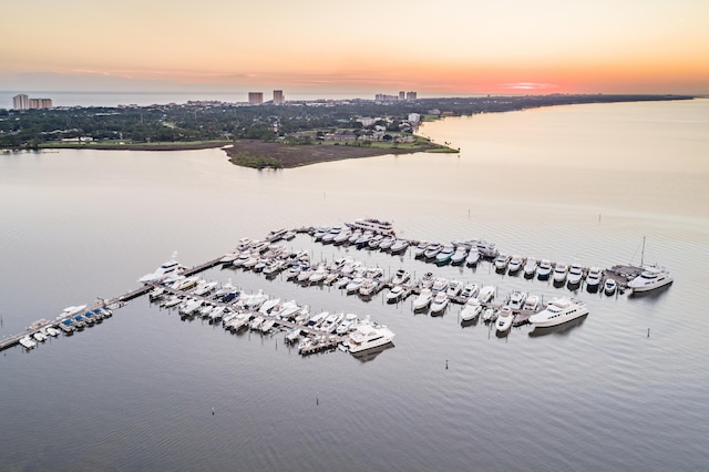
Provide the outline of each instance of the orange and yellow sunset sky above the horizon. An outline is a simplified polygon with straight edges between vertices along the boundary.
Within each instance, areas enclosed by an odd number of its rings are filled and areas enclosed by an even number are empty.
[[[9,0],[0,90],[709,93],[708,0]]]

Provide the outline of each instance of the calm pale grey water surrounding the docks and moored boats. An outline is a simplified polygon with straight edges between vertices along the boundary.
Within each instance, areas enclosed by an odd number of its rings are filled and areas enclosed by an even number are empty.
[[[223,152],[0,156],[0,335],[136,286],[173,250],[187,265],[269,229],[391,219],[405,237],[485,237],[504,250],[609,267],[667,266],[643,298],[576,294],[590,315],[547,336],[213,269],[312,310],[397,332],[371,361],[301,358],[282,335],[232,336],[136,299],[102,325],[2,352],[4,470],[698,470],[709,463],[709,101],[564,106],[427,124],[460,155],[399,155],[280,172]],[[410,254],[289,243],[567,295],[538,280]],[[650,336],[648,337],[648,329]],[[449,368],[445,368],[446,362]],[[215,414],[212,414],[214,408]]]

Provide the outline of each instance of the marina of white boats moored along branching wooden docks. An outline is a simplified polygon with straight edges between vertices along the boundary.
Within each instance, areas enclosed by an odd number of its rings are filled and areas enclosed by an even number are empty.
[[[361,235],[353,238],[353,232],[360,232]],[[403,246],[404,250],[411,248],[414,258],[432,263],[436,267],[452,264],[454,254],[458,263],[462,264],[469,259],[471,252],[475,254],[473,258],[475,265],[482,264],[481,260],[484,260],[494,266],[496,273],[507,271],[510,276],[517,276],[524,267],[525,278],[536,277],[543,280],[546,278],[548,267],[554,274],[554,287],[556,288],[564,287],[565,283],[569,288],[579,288],[592,271],[592,268],[577,264],[572,265],[569,269],[565,264],[549,263],[546,259],[543,259],[546,261],[543,267],[542,264],[536,264],[535,258],[518,255],[507,256],[505,253],[501,253],[494,244],[483,240],[471,239],[442,244],[397,238],[391,223],[379,219],[361,218],[354,223],[345,223],[342,226],[335,227],[281,228],[269,232],[263,240],[244,237],[239,239],[234,249],[225,255],[193,267],[179,265],[176,260],[176,254],[173,254],[172,258],[154,273],[138,279],[138,283],[143,284],[141,287],[110,299],[100,298],[89,309],[85,309],[86,305],[68,307],[51,321],[38,320],[27,330],[0,340],[0,350],[16,345],[21,345],[27,350],[33,349],[37,346],[34,339],[39,337],[41,340],[48,329],[62,330],[65,335],[71,335],[75,330],[93,326],[104,317],[112,315],[112,309],[120,308],[125,302],[146,294],[150,295],[148,298],[152,302],[160,302],[164,308],[177,307],[183,317],[199,315],[208,318],[210,322],[219,319],[232,321],[237,316],[240,317],[238,326],[223,321],[225,329],[234,330],[251,326],[251,329],[260,329],[263,332],[271,329],[288,331],[288,334],[298,332],[304,337],[304,341],[299,343],[299,352],[304,356],[331,350],[338,346],[348,350],[347,335],[357,329],[359,321],[351,324],[348,330],[335,334],[337,324],[323,330],[319,322],[314,325],[309,316],[301,317],[300,322],[297,322],[295,315],[301,311],[300,308],[281,317],[279,299],[275,301],[271,299],[273,304],[269,304],[267,301],[269,297],[261,295],[260,290],[258,296],[249,296],[239,294],[236,288],[218,287],[216,281],[208,283],[198,277],[201,273],[219,265],[223,268],[253,270],[270,278],[286,271],[287,280],[302,286],[336,286],[347,295],[358,295],[364,300],[371,299],[384,289],[388,290],[384,298],[387,304],[398,305],[408,297],[415,296],[417,299],[411,304],[414,314],[430,311],[431,316],[443,316],[449,304],[462,305],[464,307],[459,314],[462,325],[470,324],[473,319],[476,320],[484,311],[486,314],[483,317],[485,324],[496,320],[495,328],[499,336],[507,332],[512,326],[520,327],[528,324],[531,317],[534,320],[533,316],[547,307],[547,304],[544,304],[538,296],[520,290],[496,297],[496,288],[494,287],[486,287],[485,295],[477,298],[481,290],[476,284],[467,285],[464,289],[462,283],[435,277],[430,271],[425,273],[421,279],[413,279],[411,274],[403,269],[397,270],[390,277],[384,277],[384,271],[381,268],[366,267],[361,261],[351,257],[333,259],[330,264],[325,260],[311,261],[311,257],[307,253],[290,250],[277,244],[280,240],[292,240],[290,235],[297,234],[307,234],[312,237],[314,242],[321,244],[331,244],[338,240],[340,245],[351,244],[357,250],[389,252],[392,256],[400,254],[400,250],[391,250],[394,242],[401,242],[399,245]],[[383,247],[381,244],[372,246],[369,243],[374,238],[378,243],[389,238],[391,244]],[[353,240],[353,243],[349,243],[349,240]],[[481,258],[482,254],[484,256]],[[259,266],[261,269],[257,270],[256,268]],[[599,286],[603,286],[607,296],[623,293],[631,286],[634,280],[641,278],[645,280],[643,287],[646,289],[648,285],[646,280],[656,279],[657,274],[660,274],[654,267],[644,268],[629,265],[613,266],[603,270],[602,276],[599,276],[598,268],[593,268],[593,273],[595,277],[598,277],[598,280],[588,285],[588,291],[596,291]],[[671,284],[669,275],[662,277],[662,283],[658,285],[658,288]],[[423,298],[421,298],[422,294],[424,294]],[[552,306],[555,302],[556,298],[551,300]],[[263,309],[261,306],[266,305],[268,308]],[[276,306],[278,306],[278,310],[271,314],[271,309],[275,309]],[[587,315],[587,310],[584,315]],[[337,320],[338,324],[339,321],[340,319]],[[548,326],[548,322],[542,326]],[[393,338],[393,335],[391,337]],[[360,347],[359,350],[362,348]]]

